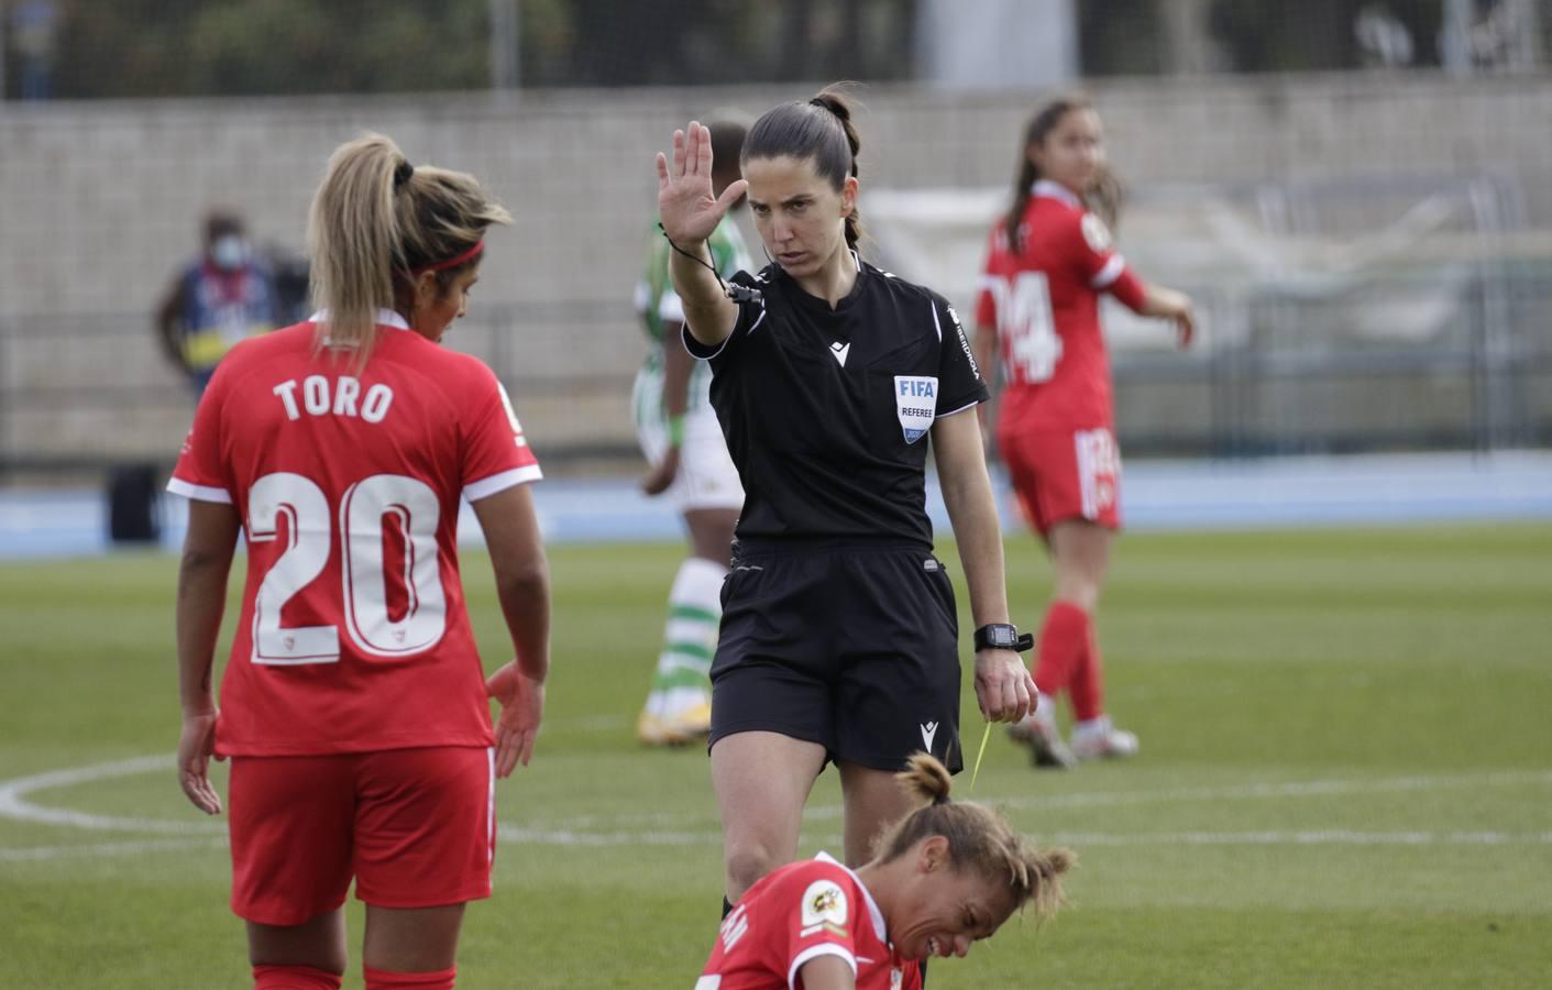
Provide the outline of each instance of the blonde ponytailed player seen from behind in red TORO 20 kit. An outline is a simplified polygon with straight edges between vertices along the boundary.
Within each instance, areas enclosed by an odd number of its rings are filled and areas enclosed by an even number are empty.
[[[540,470],[490,369],[438,344],[486,228],[508,222],[470,175],[414,168],[377,135],[341,146],[309,219],[323,310],[222,360],[168,486],[189,500],[178,777],[216,815],[210,757],[231,759],[231,908],[259,990],[340,985],[352,878],[366,987],[447,990],[464,903],[490,894],[495,779],[532,754],[549,669]],[[458,577],[459,498],[517,653],[489,681]]]

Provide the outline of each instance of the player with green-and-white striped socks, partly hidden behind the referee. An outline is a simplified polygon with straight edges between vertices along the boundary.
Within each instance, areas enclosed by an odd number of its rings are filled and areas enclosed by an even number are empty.
[[[711,124],[712,196],[739,180],[743,133],[742,124]],[[706,239],[723,278],[751,267],[733,209]],[[669,254],[672,248],[653,222],[646,273],[636,286],[647,360],[636,372],[630,408],[641,452],[652,464],[641,487],[674,500],[684,517],[691,556],[674,576],[663,650],[636,720],[636,737],[647,745],[688,743],[711,731],[711,656],[722,621],[722,580],[743,506],[739,470],[711,408],[711,368],[684,349],[684,307],[669,279]]]

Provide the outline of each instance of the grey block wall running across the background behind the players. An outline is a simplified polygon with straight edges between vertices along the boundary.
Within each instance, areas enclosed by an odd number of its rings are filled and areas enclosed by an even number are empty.
[[[535,389],[551,396],[535,396],[542,416],[559,417],[551,434],[624,442],[653,152],[691,115],[753,115],[807,93],[0,104],[0,456],[175,448],[188,402],[149,312],[196,250],[202,213],[236,206],[259,241],[300,248],[324,160],[368,129],[413,161],[475,172],[517,217],[490,239],[466,346],[500,357],[506,376],[551,382]],[[1549,78],[1214,76],[1091,93],[1135,186],[1501,174],[1529,220],[1552,228]],[[861,90],[864,189],[1007,183],[1038,96]]]

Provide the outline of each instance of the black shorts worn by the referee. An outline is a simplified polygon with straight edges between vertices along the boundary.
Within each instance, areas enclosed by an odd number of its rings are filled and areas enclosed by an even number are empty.
[[[948,571],[900,546],[739,548],[722,587],[711,746],[767,731],[897,771],[959,773],[959,622]]]

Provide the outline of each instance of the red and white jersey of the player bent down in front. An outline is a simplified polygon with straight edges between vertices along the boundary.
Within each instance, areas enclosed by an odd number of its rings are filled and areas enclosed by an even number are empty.
[[[798,970],[837,956],[857,990],[917,990],[914,961],[889,945],[883,914],[857,874],[823,852],[760,878],[722,922],[695,990],[798,990]]]

